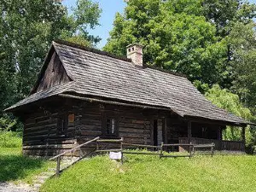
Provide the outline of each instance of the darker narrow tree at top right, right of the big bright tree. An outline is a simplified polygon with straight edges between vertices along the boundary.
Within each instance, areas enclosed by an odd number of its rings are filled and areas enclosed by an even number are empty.
[[[234,72],[231,64],[232,43],[228,37],[237,22],[247,25],[253,21],[256,15],[256,4],[244,0],[202,0],[202,6],[207,21],[216,27],[216,35],[226,42],[226,53],[223,60],[226,72],[221,85],[230,89],[235,77],[232,75]]]

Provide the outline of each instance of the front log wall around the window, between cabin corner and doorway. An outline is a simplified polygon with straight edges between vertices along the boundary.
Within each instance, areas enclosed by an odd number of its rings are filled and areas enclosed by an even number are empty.
[[[79,107],[79,143],[97,136],[106,137],[102,129],[104,117],[118,121],[118,134],[111,138],[124,137],[125,143],[151,144],[151,117],[145,110],[89,102]]]

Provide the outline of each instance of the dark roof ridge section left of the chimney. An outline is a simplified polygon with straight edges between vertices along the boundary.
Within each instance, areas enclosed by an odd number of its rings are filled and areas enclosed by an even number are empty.
[[[72,42],[64,41],[64,40],[61,40],[61,39],[55,39],[54,42],[57,43],[57,44],[64,44],[64,45],[67,45],[67,46],[70,46],[70,47],[73,47],[73,48],[90,51],[92,53],[96,53],[96,54],[99,54],[99,55],[106,55],[106,56],[112,57],[113,59],[118,59],[118,60],[122,60],[122,61],[131,62],[131,59],[128,59],[125,56],[113,55],[113,54],[111,54],[107,51],[103,51],[103,50],[100,50],[100,49],[90,48],[90,47],[80,45],[80,44],[74,44]]]

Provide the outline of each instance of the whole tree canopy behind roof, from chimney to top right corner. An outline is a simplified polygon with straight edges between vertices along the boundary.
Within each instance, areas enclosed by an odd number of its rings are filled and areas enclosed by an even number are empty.
[[[252,22],[255,4],[241,0],[131,0],[117,14],[105,50],[125,55],[131,43],[144,45],[144,61],[186,74],[201,84],[230,88],[230,42],[236,22]]]

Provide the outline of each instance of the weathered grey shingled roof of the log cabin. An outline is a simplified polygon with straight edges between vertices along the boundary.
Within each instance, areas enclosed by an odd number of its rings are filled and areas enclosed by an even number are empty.
[[[53,42],[52,46],[73,81],[33,93],[7,110],[48,96],[69,93],[169,108],[183,117],[247,124],[243,119],[207,101],[181,75],[151,67],[137,67],[126,58],[62,41]]]

